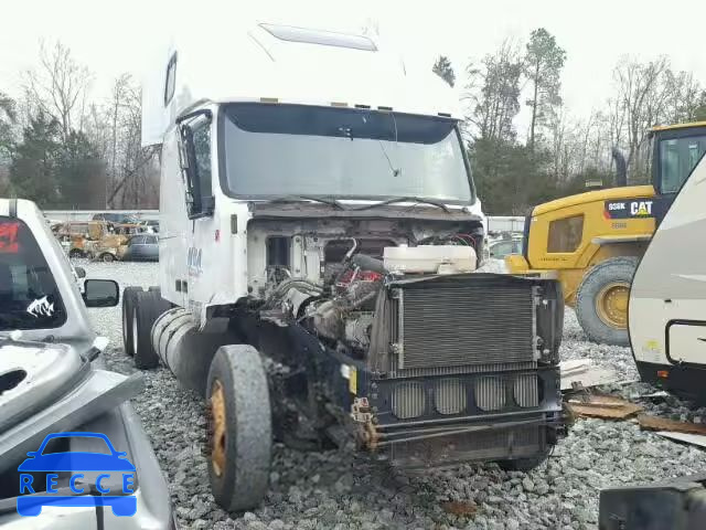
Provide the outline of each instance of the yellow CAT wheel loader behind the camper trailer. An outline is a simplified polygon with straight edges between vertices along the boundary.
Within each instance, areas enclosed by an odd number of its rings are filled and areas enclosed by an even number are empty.
[[[617,188],[539,204],[525,220],[523,253],[505,258],[511,274],[557,278],[588,338],[628,346],[632,275],[655,226],[706,151],[706,121],[650,130],[652,183],[625,186],[613,150]]]

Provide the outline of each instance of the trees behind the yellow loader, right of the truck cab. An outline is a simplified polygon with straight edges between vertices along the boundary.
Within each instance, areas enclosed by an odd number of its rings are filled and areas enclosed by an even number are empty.
[[[649,128],[706,119],[704,86],[664,56],[621,57],[602,108],[574,117],[561,99],[566,60],[555,36],[539,28],[524,45],[507,39],[467,65],[466,136],[486,213],[524,215],[535,204],[586,191],[588,181],[614,184],[613,147],[624,153],[629,182],[649,182]],[[432,71],[454,85],[448,57],[439,56]],[[530,125],[521,138],[515,118],[523,105]]]

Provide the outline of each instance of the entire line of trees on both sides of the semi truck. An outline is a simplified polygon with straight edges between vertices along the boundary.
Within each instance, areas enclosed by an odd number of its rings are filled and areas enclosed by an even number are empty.
[[[667,57],[621,57],[610,97],[588,117],[561,98],[567,54],[547,30],[526,42],[505,40],[464,68],[463,124],[479,195],[489,214],[525,214],[541,202],[613,183],[611,148],[624,152],[631,182],[645,182],[648,129],[706,119],[706,91]],[[432,71],[458,77],[439,56]],[[108,97],[92,99],[94,74],[61,42],[43,44],[21,95],[0,91],[0,195],[43,208],[159,205],[159,150],[142,148],[140,85],[114,80]],[[526,107],[528,126],[516,118]]]

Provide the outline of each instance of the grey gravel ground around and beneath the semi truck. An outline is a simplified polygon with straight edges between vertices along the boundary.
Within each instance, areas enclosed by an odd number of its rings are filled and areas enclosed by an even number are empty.
[[[154,264],[86,264],[89,277],[125,285],[157,283]],[[120,308],[92,309],[94,327],[110,339],[105,358],[122,373],[135,371],[124,356]],[[591,358],[624,380],[638,373],[628,348],[586,341],[567,310],[563,359]],[[706,470],[702,451],[680,445],[633,422],[579,420],[547,463],[532,473],[505,473],[494,464],[408,476],[364,456],[339,451],[302,453],[277,446],[270,491],[263,506],[244,515],[221,510],[208,492],[204,403],[181,389],[163,368],[145,372],[146,390],[132,400],[152,441],[179,522],[194,529],[593,529],[599,489]],[[652,402],[643,383],[609,390],[639,399],[650,412],[700,422],[706,410],[675,398]],[[456,502],[453,502],[456,501]]]

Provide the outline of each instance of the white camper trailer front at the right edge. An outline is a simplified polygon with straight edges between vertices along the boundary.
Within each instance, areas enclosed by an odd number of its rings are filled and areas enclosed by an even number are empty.
[[[706,401],[706,160],[682,186],[632,279],[632,351],[643,380]]]

